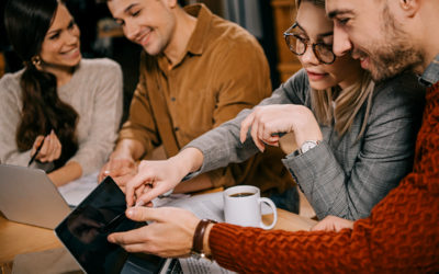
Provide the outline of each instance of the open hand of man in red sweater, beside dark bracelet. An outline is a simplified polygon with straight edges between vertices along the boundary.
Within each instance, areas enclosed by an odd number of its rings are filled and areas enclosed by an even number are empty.
[[[200,219],[192,213],[173,207],[131,207],[126,216],[135,221],[154,222],[125,232],[111,233],[110,242],[127,252],[151,253],[162,258],[188,255]]]

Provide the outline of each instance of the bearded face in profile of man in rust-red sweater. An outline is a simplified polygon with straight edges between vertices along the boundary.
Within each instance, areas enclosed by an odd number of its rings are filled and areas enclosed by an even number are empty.
[[[421,50],[395,20],[387,1],[327,0],[326,10],[335,22],[334,53],[350,52],[375,81],[423,64]]]

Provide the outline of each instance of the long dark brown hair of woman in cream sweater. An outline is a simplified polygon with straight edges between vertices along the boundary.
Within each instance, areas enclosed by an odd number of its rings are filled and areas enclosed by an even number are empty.
[[[32,148],[38,135],[55,130],[61,142],[59,168],[78,149],[76,125],[78,113],[58,96],[57,79],[33,64],[50,27],[59,3],[57,0],[9,0],[4,9],[4,25],[9,41],[23,59],[25,68],[20,79],[23,110],[15,140],[20,151]]]

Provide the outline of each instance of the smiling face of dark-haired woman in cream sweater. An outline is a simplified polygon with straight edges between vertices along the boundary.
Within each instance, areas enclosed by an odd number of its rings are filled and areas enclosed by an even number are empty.
[[[74,67],[81,60],[79,28],[64,4],[58,4],[40,53],[43,68]]]

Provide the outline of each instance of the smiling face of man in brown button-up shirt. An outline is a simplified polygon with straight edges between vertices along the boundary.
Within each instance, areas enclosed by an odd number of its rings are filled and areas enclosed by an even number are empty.
[[[171,11],[173,1],[110,0],[108,4],[130,41],[149,55],[166,50],[176,28],[176,16]]]

